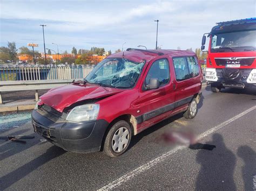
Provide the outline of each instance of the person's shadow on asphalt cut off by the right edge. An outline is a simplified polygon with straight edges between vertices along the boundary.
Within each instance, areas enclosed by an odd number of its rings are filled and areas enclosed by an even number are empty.
[[[253,176],[256,175],[256,152],[251,147],[244,145],[238,148],[237,154],[244,161],[242,167],[244,190],[256,189],[256,186],[253,185]]]

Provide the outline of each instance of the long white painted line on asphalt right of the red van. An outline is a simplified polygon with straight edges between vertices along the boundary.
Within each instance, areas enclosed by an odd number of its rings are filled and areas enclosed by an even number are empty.
[[[224,121],[220,125],[217,125],[211,129],[209,129],[208,131],[200,134],[199,139],[202,139],[202,138],[206,137],[207,135],[210,135],[211,133],[217,131],[218,129],[230,124],[232,121],[239,119],[240,117],[244,116],[246,113],[249,113],[249,112],[255,110],[255,108],[256,108],[256,105],[238,115],[235,115],[235,117]],[[172,149],[171,151],[158,156],[156,159],[153,159],[153,160],[145,163],[144,165],[132,170],[131,172],[121,176],[120,178],[110,182],[108,185],[100,188],[99,190],[112,190],[114,188],[117,188],[118,186],[122,185],[122,183],[125,183],[125,182],[131,180],[134,176],[137,176],[138,174],[143,173],[145,170],[150,169],[153,166],[156,166],[161,161],[164,161],[165,159],[167,159],[170,155],[172,155],[172,154],[176,153],[177,151],[180,151],[181,149],[184,149],[184,148],[187,148],[187,147],[185,147],[185,146],[176,147],[176,148]]]

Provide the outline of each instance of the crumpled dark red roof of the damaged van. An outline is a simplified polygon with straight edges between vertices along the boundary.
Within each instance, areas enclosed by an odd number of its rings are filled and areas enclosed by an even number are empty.
[[[127,59],[131,59],[134,62],[142,62],[142,60],[150,61],[156,57],[167,55],[169,57],[180,57],[180,56],[196,56],[193,51],[187,50],[142,50],[142,49],[127,49],[128,51],[118,52],[111,54],[107,58],[122,58],[123,56]]]

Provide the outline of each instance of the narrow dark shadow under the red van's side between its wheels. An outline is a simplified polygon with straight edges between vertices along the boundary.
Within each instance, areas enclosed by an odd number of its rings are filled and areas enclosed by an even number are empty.
[[[146,135],[149,135],[155,131],[157,131],[158,129],[170,124],[173,121],[176,121],[180,118],[183,118],[183,113],[179,113],[177,115],[174,115],[173,117],[170,117],[168,119],[165,119],[164,121],[159,122],[156,125],[153,125],[150,128],[145,129],[143,132],[137,134],[136,136],[132,137],[129,148],[127,148],[127,151],[132,148],[134,145],[136,145],[143,137],[145,137]]]

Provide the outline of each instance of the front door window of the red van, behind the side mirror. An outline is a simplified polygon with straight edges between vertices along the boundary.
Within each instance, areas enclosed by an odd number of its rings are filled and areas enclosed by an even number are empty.
[[[150,78],[157,78],[160,82],[160,86],[163,86],[169,82],[170,70],[169,62],[167,59],[156,60],[150,67],[146,76],[146,84],[149,84]]]

